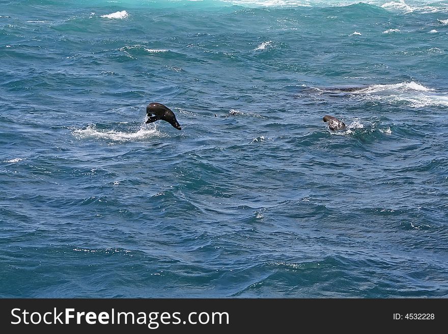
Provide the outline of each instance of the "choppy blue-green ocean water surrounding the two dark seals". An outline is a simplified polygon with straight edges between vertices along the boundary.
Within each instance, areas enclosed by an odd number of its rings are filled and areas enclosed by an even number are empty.
[[[447,114],[446,0],[2,0],[0,297],[448,297]]]

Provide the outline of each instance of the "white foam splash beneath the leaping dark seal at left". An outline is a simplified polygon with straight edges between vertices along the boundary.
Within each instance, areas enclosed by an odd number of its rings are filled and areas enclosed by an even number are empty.
[[[162,133],[156,128],[141,127],[136,132],[122,132],[115,130],[97,130],[95,125],[89,125],[86,129],[73,131],[73,135],[78,139],[97,138],[114,141],[137,141],[146,138],[160,137]]]

